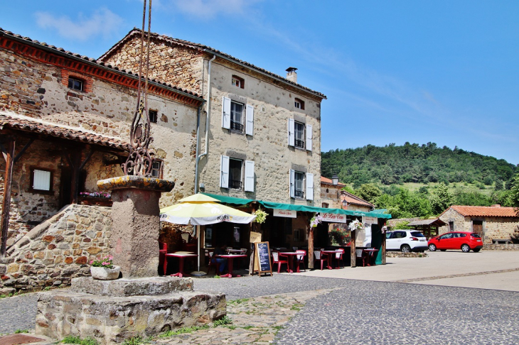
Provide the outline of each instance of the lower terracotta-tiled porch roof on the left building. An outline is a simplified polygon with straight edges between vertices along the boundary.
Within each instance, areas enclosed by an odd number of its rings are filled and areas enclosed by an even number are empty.
[[[100,146],[108,146],[119,150],[129,150],[128,143],[119,138],[102,136],[90,133],[81,128],[66,128],[57,124],[46,124],[38,119],[31,119],[22,115],[11,115],[0,112],[0,129],[12,128],[18,131],[41,133],[55,138],[65,138],[82,143],[92,143]]]

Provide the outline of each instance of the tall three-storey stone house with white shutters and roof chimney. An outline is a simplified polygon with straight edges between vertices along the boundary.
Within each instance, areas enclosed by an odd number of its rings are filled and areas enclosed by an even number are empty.
[[[130,31],[100,61],[134,70],[139,38],[139,30]],[[235,205],[248,210],[254,208],[253,200],[321,207],[315,191],[321,175],[321,101],[326,97],[297,84],[296,68],[280,77],[206,45],[155,33],[150,55],[152,77],[193,89],[208,101],[200,124],[205,133],[196,162],[197,191],[226,197],[230,204],[235,198]],[[271,241],[306,242],[304,233],[296,231],[307,229],[310,214],[293,213],[295,218],[287,219],[269,210],[275,232]],[[248,246],[246,228],[220,224],[211,231],[227,234],[218,237],[230,246]]]

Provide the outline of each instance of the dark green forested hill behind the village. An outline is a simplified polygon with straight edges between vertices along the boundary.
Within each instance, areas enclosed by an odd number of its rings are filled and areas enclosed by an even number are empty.
[[[459,148],[437,147],[436,143],[420,146],[405,143],[385,147],[373,145],[322,153],[321,175],[338,174],[341,182],[356,188],[376,182],[393,185],[403,182],[481,182],[505,185],[519,168],[505,160],[468,152]]]

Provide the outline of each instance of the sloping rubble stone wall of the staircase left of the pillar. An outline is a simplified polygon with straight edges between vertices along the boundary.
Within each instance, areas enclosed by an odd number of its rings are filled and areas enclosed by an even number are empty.
[[[111,209],[70,205],[14,243],[0,258],[0,289],[41,290],[90,275],[88,263],[109,253]]]

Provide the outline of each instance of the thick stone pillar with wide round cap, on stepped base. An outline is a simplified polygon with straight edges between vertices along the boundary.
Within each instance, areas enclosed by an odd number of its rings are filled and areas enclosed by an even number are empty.
[[[123,278],[157,275],[159,267],[159,199],[174,182],[141,176],[97,181],[100,190],[112,191],[110,247],[114,265]]]

